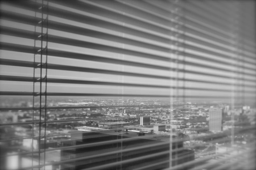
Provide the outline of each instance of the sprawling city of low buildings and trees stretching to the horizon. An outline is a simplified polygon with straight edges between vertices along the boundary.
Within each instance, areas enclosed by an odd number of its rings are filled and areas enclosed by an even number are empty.
[[[186,155],[193,155],[188,158],[189,160],[200,160],[205,156],[212,156],[212,159],[207,161],[217,162],[222,158],[217,156],[223,152],[221,150],[230,148],[247,150],[249,148],[248,143],[255,139],[252,127],[255,125],[256,112],[255,108],[250,106],[241,106],[235,108],[232,112],[230,105],[217,101],[212,103],[183,103],[176,100],[170,106],[168,100],[143,98],[64,98],[48,100],[50,104],[48,105],[46,118],[43,112],[41,113],[41,120],[38,110],[35,110],[34,114],[33,110],[29,110],[33,107],[30,100],[22,102],[18,100],[13,104],[17,109],[22,108],[21,110],[0,112],[1,141],[6,141],[5,145],[11,148],[11,150],[6,150],[8,154],[15,155],[18,150],[24,152],[32,149],[36,150],[39,147],[50,149],[60,146],[76,146],[85,142],[85,138],[87,138],[87,142],[88,138],[91,138],[91,142],[107,141],[111,140],[109,135],[117,135],[116,139],[119,139],[120,136],[123,139],[139,135],[144,139],[152,138],[151,140],[159,142],[169,142],[170,134],[172,134],[175,140],[181,141],[178,148],[185,149],[182,152]],[[2,101],[1,105],[3,108],[6,107],[8,100]],[[44,122],[45,119],[47,121],[46,129],[42,126],[40,132],[39,123],[36,122]],[[7,126],[8,124],[12,125]],[[83,137],[80,138],[80,143],[77,144],[77,142],[74,143],[74,140],[79,141],[79,136],[81,136],[79,133],[82,133]],[[103,135],[101,136],[102,139],[95,139],[94,141],[95,133]],[[40,140],[39,135],[45,135],[46,141],[44,141],[44,138]],[[84,137],[84,135],[87,137]],[[130,146],[125,144],[124,141],[122,147],[125,145]],[[145,141],[142,142],[142,145],[146,145]],[[119,149],[126,148],[122,147]],[[107,146],[103,146],[102,152],[105,152],[104,149],[106,148]],[[82,152],[81,148],[78,150],[74,150],[73,157],[69,150],[55,150],[56,153],[46,152],[49,155],[46,162],[52,159],[60,161],[76,158],[74,155],[78,152],[79,154],[87,153],[87,151]],[[31,159],[31,157],[25,158]],[[25,158],[20,158],[20,160]],[[15,162],[15,159],[18,161],[15,156],[9,156],[6,159],[7,163],[9,161]],[[56,167],[74,168],[84,166],[84,164],[56,164]],[[14,166],[9,167],[10,169],[15,168],[18,163],[16,165],[15,163],[9,164],[9,166]]]

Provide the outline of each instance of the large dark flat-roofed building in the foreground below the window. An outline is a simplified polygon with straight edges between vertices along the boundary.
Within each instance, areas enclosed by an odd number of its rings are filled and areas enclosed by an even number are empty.
[[[151,165],[152,169],[164,169],[169,167],[170,153],[166,152],[167,150],[170,150],[169,138],[153,135],[157,138],[156,139],[152,135],[137,132],[129,132],[122,136],[119,134],[120,132],[115,131],[72,131],[71,140],[60,143],[63,147],[75,146],[76,148],[61,150],[61,161],[63,161],[63,163],[61,163],[60,169],[79,170],[95,168],[98,166],[102,167],[102,169],[121,170],[142,168],[148,165]],[[120,142],[116,141],[116,139],[124,140],[122,143],[123,148],[121,148]],[[156,146],[150,146],[153,144]],[[122,155],[117,156],[116,153],[121,149],[123,150]],[[157,154],[158,156],[155,156]],[[179,140],[177,136],[173,136],[171,155],[172,166],[193,161],[195,159],[194,151],[184,149],[183,141]],[[144,156],[147,156],[148,159],[141,161],[141,157]],[[138,158],[138,160],[134,161],[135,163],[125,163],[122,164],[122,168],[117,167],[117,165],[120,165],[120,163],[118,163],[120,160],[129,161],[134,158]],[[72,159],[76,160],[71,161]],[[165,161],[166,163],[154,165],[161,161]],[[103,168],[106,164],[108,167]],[[189,168],[191,168],[191,165]],[[183,169],[188,169],[188,167],[184,167]]]

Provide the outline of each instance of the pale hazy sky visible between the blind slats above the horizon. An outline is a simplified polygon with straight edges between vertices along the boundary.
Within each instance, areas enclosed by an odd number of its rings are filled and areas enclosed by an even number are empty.
[[[126,1],[126,2],[128,2],[128,1]],[[163,4],[161,4],[161,3],[156,4],[154,2],[156,2],[156,1],[150,1],[150,3],[152,3],[156,6],[161,6],[162,8],[166,8],[163,6]],[[162,2],[162,1],[159,1],[159,2]],[[83,2],[81,2],[81,3],[83,3]],[[135,2],[130,1],[130,5],[136,4],[136,3],[135,4],[133,4],[133,3],[135,3]],[[54,6],[53,3],[50,3],[50,5]],[[58,6],[56,6],[56,7],[58,7]],[[15,11],[17,13],[22,13],[22,14],[26,14],[26,15],[30,15],[30,16],[35,15],[35,13],[32,11],[21,10],[21,9],[18,9],[15,7],[10,7],[10,6],[8,6],[8,4],[4,4],[4,3],[2,3],[0,9],[1,10],[11,10],[11,11]],[[170,9],[172,9],[172,7],[170,7]],[[77,13],[83,14],[83,15],[94,16],[92,14],[87,13],[86,11],[74,10],[74,9],[70,9],[70,8],[65,8],[65,10],[77,12]],[[132,15],[132,13],[129,15]],[[37,16],[40,17],[40,15],[37,15]],[[134,17],[138,18],[138,16],[134,16]],[[99,18],[109,20],[104,17],[99,17]],[[189,19],[189,16],[188,16],[188,19]],[[105,28],[99,28],[96,26],[87,25],[86,21],[85,21],[85,23],[79,23],[76,21],[65,20],[65,19],[61,19],[61,18],[57,18],[57,17],[53,17],[53,16],[49,16],[49,20],[67,23],[67,24],[75,25],[77,27],[85,27],[85,28],[89,28],[92,30],[96,30],[96,31],[102,31],[102,32],[105,32],[108,34],[118,35],[121,37],[133,38],[133,39],[137,39],[138,41],[143,41],[143,42],[155,44],[155,45],[162,46],[162,47],[176,48],[176,46],[174,46],[173,44],[166,44],[166,43],[162,43],[159,41],[153,41],[153,40],[141,38],[141,37],[134,36],[134,35],[124,34],[122,32],[116,32],[113,30],[105,29]],[[195,21],[195,19],[193,19],[193,17],[192,17],[191,21],[192,20]],[[247,20],[252,21],[253,19],[247,18]],[[115,22],[118,24],[123,24],[124,26],[127,25],[125,22],[123,22],[123,23],[120,21],[115,21]],[[34,31],[34,26],[32,26],[32,25],[15,23],[12,21],[1,20],[1,25]],[[254,28],[255,28],[255,25],[254,25]],[[144,30],[144,31],[152,32],[152,34],[153,34],[153,31],[149,31],[147,28],[140,28],[140,29]],[[216,28],[216,30],[217,30],[217,28]],[[37,32],[40,32],[40,31],[41,31],[40,28],[37,27]],[[230,34],[228,32],[224,32],[224,33],[227,35]],[[132,50],[136,50],[136,51],[140,51],[140,52],[144,52],[144,53],[148,53],[148,54],[155,54],[155,55],[160,55],[160,56],[168,57],[168,58],[176,58],[176,56],[174,54],[170,54],[167,52],[162,52],[162,51],[157,51],[157,50],[152,50],[152,49],[145,49],[145,48],[141,48],[141,47],[137,47],[137,46],[121,44],[121,43],[117,43],[117,42],[113,42],[113,41],[90,37],[90,36],[76,35],[76,34],[56,31],[56,30],[52,30],[52,29],[48,30],[48,34],[64,36],[67,38],[79,39],[82,41],[94,42],[94,43],[98,43],[98,44],[109,45],[112,47],[118,47],[120,49],[132,49]],[[154,34],[161,35],[160,33],[154,33]],[[211,34],[211,33],[209,33],[209,34]],[[254,34],[255,34],[255,32],[254,32]],[[231,49],[230,49],[231,39],[228,40],[226,44],[219,44],[216,42],[212,42],[211,40],[206,39],[204,37],[197,37],[195,35],[190,35],[188,33],[186,33],[186,35],[193,36],[193,37],[201,39],[201,40],[205,40],[207,42],[213,43],[215,45],[219,45],[219,46],[224,47],[229,50],[221,51],[221,50],[214,49],[212,47],[198,45],[198,44],[188,41],[188,40],[185,40],[185,44],[197,46],[200,48],[205,48],[207,50],[212,50],[214,52],[218,52],[220,54],[225,54],[230,57],[235,57],[235,55],[231,52]],[[174,37],[172,35],[161,35],[161,36],[169,36],[170,38],[174,39]],[[218,37],[218,36],[216,35],[215,37]],[[222,37],[219,37],[219,38],[223,39]],[[18,38],[18,37],[13,37],[13,36],[9,36],[9,35],[1,35],[1,42],[34,46],[33,39]],[[250,46],[255,47],[254,42],[247,41],[247,44],[250,44]],[[40,47],[40,41],[36,42],[36,46]],[[75,53],[91,54],[91,55],[96,55],[96,56],[103,56],[106,58],[120,59],[120,60],[133,61],[133,62],[145,63],[145,64],[154,64],[154,65],[160,65],[160,66],[165,66],[165,67],[169,67],[169,66],[174,67],[174,68],[177,67],[177,65],[175,63],[170,63],[170,62],[163,62],[163,61],[159,61],[159,60],[153,60],[153,59],[143,58],[143,57],[138,57],[138,56],[124,55],[122,53],[107,52],[107,51],[101,51],[101,50],[95,50],[95,49],[89,49],[89,48],[56,44],[56,43],[51,43],[51,42],[48,43],[48,49],[72,51]],[[243,53],[245,53],[249,56],[255,57],[255,48],[253,49],[252,47],[245,45],[245,49],[246,50],[244,50]],[[198,63],[198,64],[205,64],[205,65],[209,65],[209,66],[217,66],[219,68],[227,68],[230,70],[235,69],[233,66],[231,66],[231,64],[236,63],[236,61],[234,61],[231,58],[221,58],[217,55],[211,55],[211,54],[207,54],[207,53],[203,53],[203,52],[199,52],[199,51],[195,51],[195,50],[190,50],[188,48],[185,48],[185,49],[180,48],[179,50],[181,50],[181,51],[184,50],[188,54],[194,54],[194,55],[202,56],[205,58],[216,59],[219,61],[219,63],[217,64],[217,63],[211,63],[211,62],[207,62],[207,61],[203,61],[203,60],[199,60],[199,59],[194,59],[194,58],[190,57],[189,55],[185,56],[185,61],[194,62],[194,63]],[[13,51],[7,51],[7,50],[0,50],[0,57],[2,59],[13,59],[13,60],[30,61],[30,62],[33,62],[33,60],[34,60],[33,54],[13,52]],[[37,55],[36,57],[37,57],[36,61],[39,61],[40,55]],[[183,60],[184,56],[179,55],[178,57],[180,60]],[[230,65],[221,64],[222,61],[230,62]],[[251,64],[244,64],[246,66],[246,68],[252,68],[252,69],[255,68],[255,64],[256,64],[255,59],[245,58],[245,61],[248,61],[251,63]],[[153,68],[142,68],[142,67],[135,67],[135,66],[106,64],[106,63],[94,62],[94,61],[77,60],[77,59],[72,59],[72,56],[70,59],[55,57],[55,56],[48,56],[48,63],[61,64],[61,65],[72,65],[72,66],[86,67],[86,68],[98,68],[98,69],[106,69],[106,70],[114,70],[114,71],[124,71],[124,72],[131,72],[131,73],[141,73],[141,74],[149,74],[149,75],[157,75],[157,76],[173,76],[173,77],[177,76],[177,74],[173,71],[164,71],[164,70],[157,70],[157,69],[153,69]],[[237,64],[243,65],[243,63],[241,63],[241,62],[237,63]],[[183,65],[179,64],[179,68],[182,69]],[[225,72],[225,71],[215,70],[215,69],[210,69],[210,68],[201,68],[201,67],[196,67],[196,66],[191,66],[191,65],[186,65],[185,69],[188,71],[199,71],[199,72],[203,72],[203,73],[217,74],[220,76],[221,75],[226,75],[226,76],[230,76],[230,77],[233,76],[232,73],[230,73],[230,72]],[[36,69],[36,76],[39,76],[39,73],[40,73],[39,71],[40,71],[40,69]],[[242,71],[242,70],[240,69],[240,71]],[[249,69],[244,69],[243,71],[245,73],[250,73],[250,74],[256,75],[256,71],[252,71]],[[1,65],[0,66],[0,74],[1,75],[10,75],[10,76],[12,75],[12,76],[33,77],[33,68]],[[159,78],[157,78],[157,79],[156,78],[140,78],[140,77],[118,76],[118,75],[63,71],[63,70],[50,70],[50,69],[48,69],[47,74],[48,74],[48,78],[67,78],[67,79],[79,79],[79,80],[154,84],[154,85],[177,85],[177,82],[175,82],[173,80],[170,81],[170,80],[164,80],[164,79],[159,79]],[[179,75],[178,75],[179,78],[183,78],[183,76],[185,78],[189,78],[189,79],[208,80],[208,81],[215,81],[215,82],[231,83],[231,81],[232,81],[232,79],[229,79],[229,78],[216,78],[216,77],[212,77],[212,76],[203,76],[203,75],[190,74],[190,73],[186,73],[185,75],[183,73],[179,73]],[[242,77],[241,75],[235,75],[235,76]],[[245,75],[244,77],[247,79],[254,80],[254,82],[245,81],[244,83],[246,85],[255,85],[256,86],[255,76]],[[243,83],[243,82],[240,80],[236,83]],[[184,82],[179,81],[179,86],[182,87],[183,84],[184,84]],[[226,90],[231,89],[231,86],[227,86],[227,85],[196,83],[196,82],[189,82],[189,81],[185,82],[185,87],[214,88],[214,89],[226,89]],[[237,88],[238,87],[236,87],[236,89]],[[241,90],[242,88],[239,88],[239,89]],[[38,91],[38,90],[39,90],[39,83],[36,83],[35,91]],[[254,97],[253,100],[255,100],[255,88],[247,87],[245,90],[254,91],[251,93],[246,93],[246,96]],[[33,91],[33,83],[32,82],[0,81],[0,91],[32,92]],[[105,86],[105,85],[103,86],[103,85],[48,83],[47,84],[47,92],[114,93],[114,94],[122,94],[123,93],[123,94],[167,95],[167,94],[170,94],[170,89],[140,88],[140,87],[123,87],[122,88],[122,87],[117,87],[117,86]],[[177,93],[176,90],[175,90],[175,93]],[[182,93],[183,93],[183,90],[179,90],[179,95],[182,95]],[[209,96],[210,95],[210,96],[230,96],[231,97],[230,92],[209,92],[209,91],[201,91],[201,90],[200,91],[186,90],[185,95],[196,95],[196,96]],[[241,93],[239,93],[237,95],[242,96]]]

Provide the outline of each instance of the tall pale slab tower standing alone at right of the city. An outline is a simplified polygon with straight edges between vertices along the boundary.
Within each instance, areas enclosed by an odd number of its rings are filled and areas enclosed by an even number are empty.
[[[210,131],[222,131],[222,108],[210,108],[209,109],[209,130]]]

